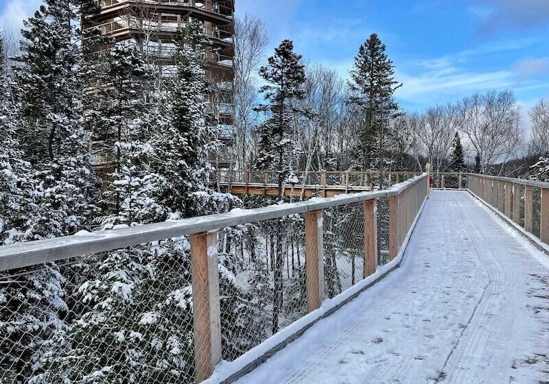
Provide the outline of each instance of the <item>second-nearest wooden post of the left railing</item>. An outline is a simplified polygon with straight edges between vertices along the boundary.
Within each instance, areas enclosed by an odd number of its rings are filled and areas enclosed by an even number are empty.
[[[307,311],[320,308],[324,298],[323,211],[305,213],[305,274]]]

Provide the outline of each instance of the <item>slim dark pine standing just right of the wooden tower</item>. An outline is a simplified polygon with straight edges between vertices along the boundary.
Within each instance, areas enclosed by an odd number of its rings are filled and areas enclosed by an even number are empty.
[[[268,84],[261,87],[267,104],[258,110],[268,114],[268,120],[259,130],[259,153],[256,169],[274,167],[278,173],[278,197],[282,199],[282,185],[292,178],[291,159],[296,149],[292,140],[290,121],[298,111],[294,101],[305,97],[305,65],[301,55],[294,53],[294,43],[283,40],[268,58],[268,67],[261,67],[259,75]]]

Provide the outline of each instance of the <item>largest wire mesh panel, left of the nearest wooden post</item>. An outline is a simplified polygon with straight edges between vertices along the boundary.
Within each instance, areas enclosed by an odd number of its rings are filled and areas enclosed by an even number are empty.
[[[0,383],[194,383],[189,241],[0,278]]]

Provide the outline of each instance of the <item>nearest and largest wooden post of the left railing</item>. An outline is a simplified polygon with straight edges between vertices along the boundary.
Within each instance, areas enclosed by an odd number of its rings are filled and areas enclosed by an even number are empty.
[[[196,382],[205,381],[221,361],[218,237],[191,235],[191,280]]]

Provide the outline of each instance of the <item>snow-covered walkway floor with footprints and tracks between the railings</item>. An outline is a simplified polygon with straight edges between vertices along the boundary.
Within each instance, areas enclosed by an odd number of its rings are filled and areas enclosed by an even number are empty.
[[[238,384],[549,383],[549,257],[432,191],[401,268]]]

